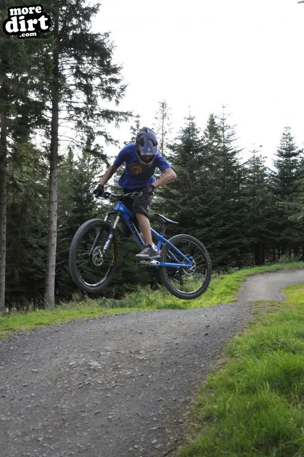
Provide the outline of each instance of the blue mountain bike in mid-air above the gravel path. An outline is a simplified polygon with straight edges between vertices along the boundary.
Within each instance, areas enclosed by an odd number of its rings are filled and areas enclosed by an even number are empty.
[[[70,248],[70,272],[76,286],[87,293],[98,293],[109,285],[117,268],[118,245],[116,227],[123,217],[127,226],[142,248],[144,240],[136,226],[133,213],[123,200],[136,197],[141,192],[118,195],[104,192],[106,199],[114,198],[115,208],[108,211],[104,220],[91,219],[80,226],[73,237]],[[140,260],[141,264],[158,268],[160,279],[176,297],[193,299],[204,293],[209,286],[212,266],[205,246],[191,235],[175,235],[167,240],[166,227],[178,224],[162,214],[157,214],[163,227],[157,233],[152,227],[152,236],[157,238],[160,257]]]

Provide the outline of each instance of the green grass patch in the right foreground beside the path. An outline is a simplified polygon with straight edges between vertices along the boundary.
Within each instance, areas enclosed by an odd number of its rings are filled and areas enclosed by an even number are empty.
[[[250,329],[202,386],[176,457],[304,455],[304,283],[284,293],[256,302]]]

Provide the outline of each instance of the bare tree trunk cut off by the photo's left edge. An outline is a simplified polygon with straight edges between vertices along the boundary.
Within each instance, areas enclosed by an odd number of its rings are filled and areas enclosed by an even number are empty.
[[[0,314],[5,311],[7,116],[0,115]]]

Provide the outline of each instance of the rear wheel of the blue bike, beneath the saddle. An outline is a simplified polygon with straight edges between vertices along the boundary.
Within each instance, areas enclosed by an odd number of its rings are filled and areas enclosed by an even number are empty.
[[[191,235],[175,235],[169,239],[180,252],[191,260],[191,267],[159,267],[160,279],[176,297],[192,300],[209,286],[212,265],[205,246]],[[159,262],[185,263],[186,261],[168,244],[160,251]]]

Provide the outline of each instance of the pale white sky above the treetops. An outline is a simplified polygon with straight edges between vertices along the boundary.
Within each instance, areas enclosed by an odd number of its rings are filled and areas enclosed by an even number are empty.
[[[247,159],[253,144],[272,162],[283,128],[304,143],[304,4],[297,0],[102,0],[94,31],[110,31],[129,84],[121,110],[151,126],[158,101],[174,133],[189,113],[201,129],[221,104]],[[111,128],[129,139],[130,124]],[[108,148],[116,155],[119,149]]]

